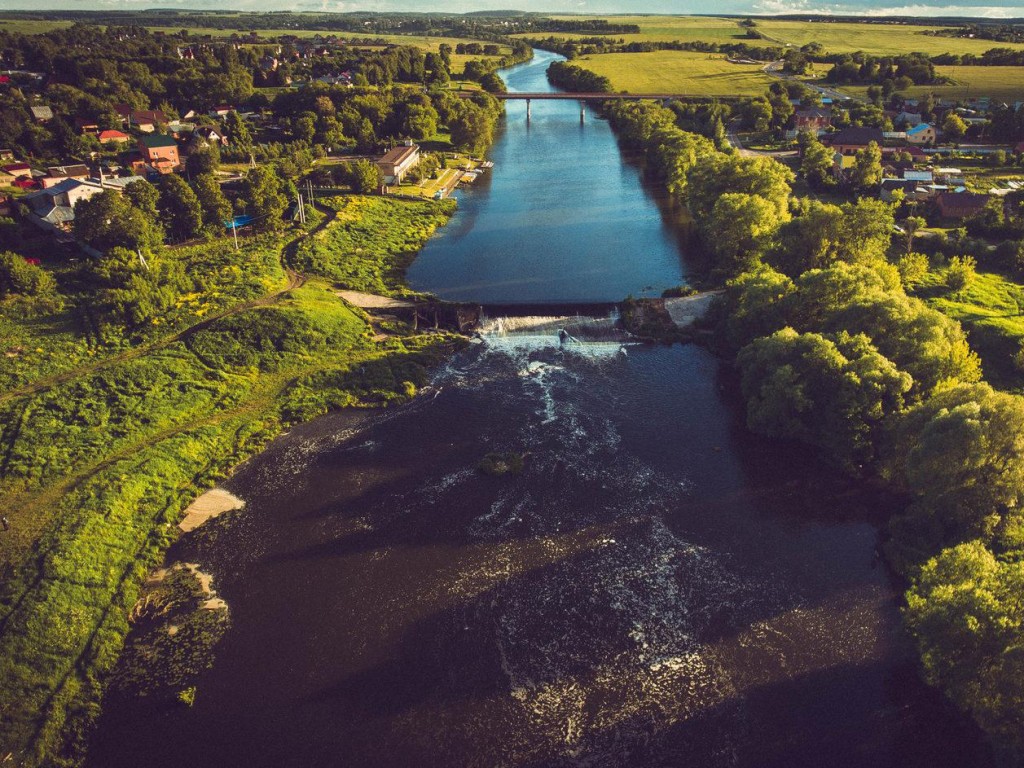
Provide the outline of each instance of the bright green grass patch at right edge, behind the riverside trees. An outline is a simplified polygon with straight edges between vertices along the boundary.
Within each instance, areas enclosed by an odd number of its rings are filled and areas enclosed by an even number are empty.
[[[964,326],[980,356],[985,378],[1004,389],[1024,387],[1024,372],[1014,355],[1024,342],[1024,286],[995,272],[979,272],[971,286],[952,293],[945,270],[928,273],[916,293],[928,304]]]

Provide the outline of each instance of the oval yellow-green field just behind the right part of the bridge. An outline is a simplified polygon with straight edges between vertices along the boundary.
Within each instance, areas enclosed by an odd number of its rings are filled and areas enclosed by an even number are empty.
[[[764,93],[772,82],[760,66],[729,63],[717,53],[603,53],[583,56],[572,63],[608,78],[616,91],[636,93],[753,96]]]

